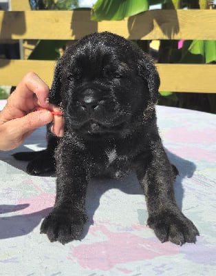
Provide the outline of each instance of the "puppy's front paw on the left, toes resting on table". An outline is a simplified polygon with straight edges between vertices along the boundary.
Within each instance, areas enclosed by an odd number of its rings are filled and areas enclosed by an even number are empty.
[[[52,210],[41,224],[41,234],[47,234],[50,242],[58,241],[66,244],[74,239],[80,239],[86,221],[87,215],[80,210],[70,212]]]

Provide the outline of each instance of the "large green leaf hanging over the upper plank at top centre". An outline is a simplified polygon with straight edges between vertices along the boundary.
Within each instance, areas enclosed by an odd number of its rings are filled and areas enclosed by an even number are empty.
[[[98,0],[91,10],[91,20],[122,20],[149,10],[147,0]]]

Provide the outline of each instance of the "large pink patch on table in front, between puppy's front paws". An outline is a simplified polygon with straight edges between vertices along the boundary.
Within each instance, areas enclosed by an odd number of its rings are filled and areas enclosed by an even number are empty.
[[[113,233],[105,226],[92,226],[90,232],[100,231],[107,237],[104,242],[71,246],[68,259],[77,259],[83,268],[110,270],[119,264],[153,259],[164,255],[175,255],[179,249],[174,244],[160,243],[159,240],[145,239],[132,233]],[[117,268],[125,269],[125,268]],[[128,271],[123,271],[128,273]]]

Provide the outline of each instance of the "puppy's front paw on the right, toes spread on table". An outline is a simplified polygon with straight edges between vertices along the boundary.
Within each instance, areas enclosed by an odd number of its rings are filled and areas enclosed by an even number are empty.
[[[171,211],[151,215],[147,224],[155,232],[161,242],[173,242],[182,245],[186,242],[195,243],[199,232],[192,221],[182,213],[173,214]]]

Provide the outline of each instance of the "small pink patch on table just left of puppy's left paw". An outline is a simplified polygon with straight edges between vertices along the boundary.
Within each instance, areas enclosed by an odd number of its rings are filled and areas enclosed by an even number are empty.
[[[30,204],[28,208],[20,210],[19,213],[26,215],[39,212],[40,210],[50,208],[54,206],[55,194],[44,193],[39,186],[34,186],[39,190],[39,195],[35,197],[29,197],[24,199],[19,199],[17,204]]]

